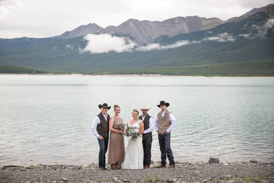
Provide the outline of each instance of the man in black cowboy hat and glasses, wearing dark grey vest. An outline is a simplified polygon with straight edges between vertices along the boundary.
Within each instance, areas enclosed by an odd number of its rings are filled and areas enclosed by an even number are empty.
[[[106,151],[108,150],[108,135],[109,135],[109,115],[107,114],[111,106],[104,103],[99,104],[99,109],[101,109],[100,114],[94,117],[92,122],[92,133],[97,137],[99,143],[99,169],[106,170]]]

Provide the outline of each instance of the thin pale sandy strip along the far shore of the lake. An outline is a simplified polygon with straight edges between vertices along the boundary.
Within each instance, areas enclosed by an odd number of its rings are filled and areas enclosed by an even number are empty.
[[[271,78],[273,79],[274,76],[186,76],[186,75],[160,75],[160,74],[104,74],[104,75],[87,75],[87,74],[8,74],[8,73],[0,73],[0,75],[47,75],[47,76],[113,76],[113,77],[207,77],[207,78],[240,78],[240,77],[249,77],[249,78]]]

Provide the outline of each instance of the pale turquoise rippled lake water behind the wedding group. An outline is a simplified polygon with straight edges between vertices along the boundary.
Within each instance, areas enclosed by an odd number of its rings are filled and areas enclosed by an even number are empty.
[[[176,118],[175,160],[274,160],[273,78],[0,75],[0,165],[98,163],[98,104],[119,104],[127,123],[142,104],[155,118],[160,100]]]

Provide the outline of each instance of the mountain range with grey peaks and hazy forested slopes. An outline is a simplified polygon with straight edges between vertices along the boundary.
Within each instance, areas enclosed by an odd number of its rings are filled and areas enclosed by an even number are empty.
[[[198,16],[162,22],[129,19],[105,29],[95,23],[81,25],[49,38],[0,39],[0,65],[90,71],[273,61],[273,16],[270,4],[227,21]],[[91,54],[88,34],[110,34],[135,45],[127,51]]]

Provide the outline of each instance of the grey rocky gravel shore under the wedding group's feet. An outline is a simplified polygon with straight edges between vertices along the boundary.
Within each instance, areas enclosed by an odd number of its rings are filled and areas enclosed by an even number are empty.
[[[99,170],[97,164],[0,166],[2,183],[91,183],[91,182],[174,182],[174,183],[274,183],[274,162],[207,163],[178,162],[175,168]]]

